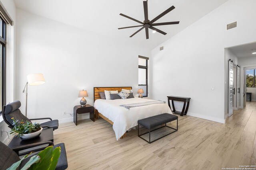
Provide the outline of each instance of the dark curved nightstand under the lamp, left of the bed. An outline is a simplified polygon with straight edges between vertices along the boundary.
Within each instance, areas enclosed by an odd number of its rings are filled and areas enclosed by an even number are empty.
[[[94,121],[94,107],[86,104],[85,106],[75,106],[74,107],[74,123],[77,125],[77,114],[82,114],[82,113],[90,113],[90,119]]]

